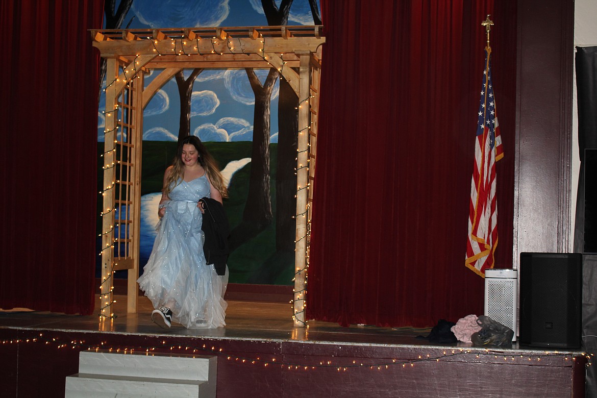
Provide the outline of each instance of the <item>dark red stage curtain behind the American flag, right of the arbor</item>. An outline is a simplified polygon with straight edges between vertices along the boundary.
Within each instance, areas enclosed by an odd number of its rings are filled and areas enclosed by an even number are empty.
[[[433,326],[482,314],[464,266],[487,14],[512,267],[516,2],[322,0],[326,44],[307,319]]]

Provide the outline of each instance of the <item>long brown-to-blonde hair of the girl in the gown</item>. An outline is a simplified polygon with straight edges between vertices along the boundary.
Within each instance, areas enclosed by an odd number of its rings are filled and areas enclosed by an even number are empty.
[[[180,181],[182,181],[184,177],[184,163],[182,161],[184,144],[191,144],[195,147],[199,154],[198,162],[205,169],[205,173],[207,173],[207,178],[210,179],[211,185],[220,191],[222,198],[227,198],[228,189],[226,188],[224,177],[220,172],[216,159],[207,152],[205,145],[199,140],[199,137],[195,137],[195,135],[189,135],[180,140],[176,156],[172,161],[172,170],[166,179],[162,192],[168,195],[175,186],[180,184]]]

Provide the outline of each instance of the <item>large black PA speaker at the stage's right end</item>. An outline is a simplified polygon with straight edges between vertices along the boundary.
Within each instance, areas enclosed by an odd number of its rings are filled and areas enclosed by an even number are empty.
[[[519,344],[579,348],[583,255],[521,253],[519,271]]]

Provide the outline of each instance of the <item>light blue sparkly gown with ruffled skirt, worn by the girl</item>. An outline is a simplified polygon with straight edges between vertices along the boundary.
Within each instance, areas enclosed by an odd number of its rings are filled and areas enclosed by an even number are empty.
[[[170,308],[174,322],[189,329],[226,325],[227,269],[219,276],[213,264],[206,264],[203,252],[203,217],[197,202],[205,196],[210,197],[205,174],[188,183],[182,180],[171,190],[151,255],[137,280],[155,308]]]

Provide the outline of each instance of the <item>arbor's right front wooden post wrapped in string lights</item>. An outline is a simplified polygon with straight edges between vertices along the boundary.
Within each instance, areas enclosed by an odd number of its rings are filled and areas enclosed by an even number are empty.
[[[294,326],[306,325],[304,294],[307,285],[307,203],[309,198],[310,54],[300,54],[298,75],[297,210],[294,239]]]

